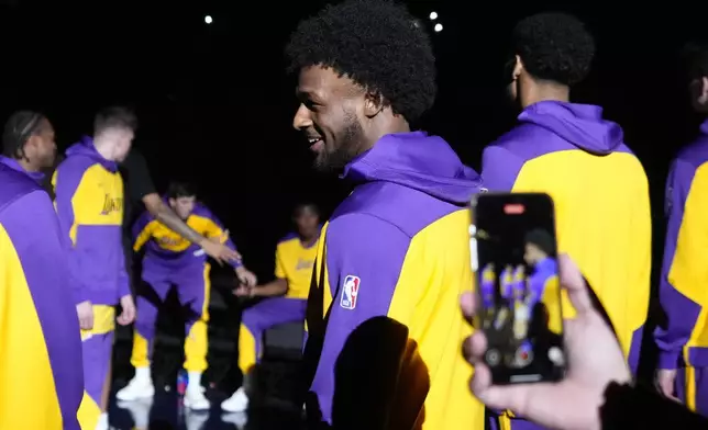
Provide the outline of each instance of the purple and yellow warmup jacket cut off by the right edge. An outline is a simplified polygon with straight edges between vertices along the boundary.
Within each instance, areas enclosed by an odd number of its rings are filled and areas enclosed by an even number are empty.
[[[708,367],[708,121],[672,163],[666,183],[666,245],[655,333],[660,369]]]

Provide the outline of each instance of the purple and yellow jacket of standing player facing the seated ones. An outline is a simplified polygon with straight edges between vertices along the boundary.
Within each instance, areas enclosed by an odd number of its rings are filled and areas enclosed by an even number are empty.
[[[122,248],[123,180],[84,137],[66,151],[52,183],[62,231],[70,239],[74,299],[115,305],[130,294]]]

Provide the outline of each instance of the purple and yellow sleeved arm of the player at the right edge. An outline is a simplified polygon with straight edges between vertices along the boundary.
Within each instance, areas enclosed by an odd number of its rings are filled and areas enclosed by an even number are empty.
[[[666,186],[668,225],[660,283],[666,324],[654,332],[659,369],[678,365],[683,347],[706,305],[708,285],[708,163],[674,162]]]

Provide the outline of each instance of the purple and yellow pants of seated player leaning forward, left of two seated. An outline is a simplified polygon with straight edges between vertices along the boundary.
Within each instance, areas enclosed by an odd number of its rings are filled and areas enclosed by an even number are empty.
[[[209,264],[184,267],[177,270],[156,264],[143,264],[143,281],[147,285],[137,295],[137,318],[133,337],[131,363],[135,367],[148,367],[155,340],[155,322],[161,305],[169,288],[175,285],[179,303],[188,308],[185,321],[185,370],[207,370],[207,324],[209,321]]]

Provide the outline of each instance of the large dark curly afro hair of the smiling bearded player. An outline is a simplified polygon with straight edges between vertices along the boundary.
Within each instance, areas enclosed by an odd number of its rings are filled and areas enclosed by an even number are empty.
[[[288,71],[330,67],[379,93],[392,111],[416,121],[436,93],[430,38],[405,5],[346,0],[298,25],[286,47]]]

